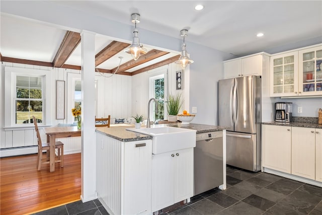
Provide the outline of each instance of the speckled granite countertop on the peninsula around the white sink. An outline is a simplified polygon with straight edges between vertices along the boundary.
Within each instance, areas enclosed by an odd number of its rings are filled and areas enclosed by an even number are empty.
[[[171,127],[180,127],[186,129],[193,129],[196,130],[197,133],[204,133],[210,131],[219,131],[225,130],[228,127],[224,126],[215,126],[215,125],[203,125],[203,124],[193,124],[190,123],[189,125],[182,125],[181,123],[172,123],[172,124],[162,124],[162,125],[155,125],[157,127],[161,126],[171,126]],[[145,135],[133,131],[126,130],[126,128],[134,127],[133,125],[128,126],[115,126],[115,127],[97,127],[96,132],[106,134],[114,139],[130,142],[130,141],[137,141],[137,140],[144,140],[144,139],[152,139],[152,136]],[[145,127],[145,126],[142,126]],[[153,127],[153,125],[151,126]]]

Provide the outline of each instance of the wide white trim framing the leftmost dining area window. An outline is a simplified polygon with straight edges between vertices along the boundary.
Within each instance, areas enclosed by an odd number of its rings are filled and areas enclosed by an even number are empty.
[[[16,76],[43,76],[43,125],[51,125],[52,99],[55,98],[52,90],[53,70],[40,70],[31,68],[17,68],[5,66],[5,128],[24,128],[33,127],[33,124],[16,124],[15,123],[15,98],[16,98]]]

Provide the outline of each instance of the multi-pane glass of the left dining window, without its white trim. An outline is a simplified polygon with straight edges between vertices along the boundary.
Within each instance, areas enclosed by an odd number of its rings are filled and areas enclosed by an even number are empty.
[[[42,77],[16,76],[16,124],[33,123],[43,119]]]

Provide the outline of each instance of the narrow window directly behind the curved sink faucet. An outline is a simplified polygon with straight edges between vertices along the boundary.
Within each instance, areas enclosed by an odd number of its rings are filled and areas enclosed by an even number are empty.
[[[150,89],[151,95],[158,100],[157,109],[158,111],[154,112],[154,120],[164,119],[165,118],[165,76],[159,75],[150,78]],[[153,106],[154,107],[154,106]]]

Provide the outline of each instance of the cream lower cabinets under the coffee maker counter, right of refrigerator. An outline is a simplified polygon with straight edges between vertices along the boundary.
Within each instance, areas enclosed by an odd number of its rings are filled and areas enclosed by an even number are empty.
[[[322,182],[322,129],[262,125],[263,167]]]

